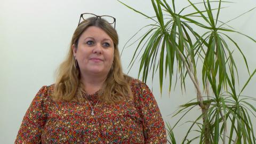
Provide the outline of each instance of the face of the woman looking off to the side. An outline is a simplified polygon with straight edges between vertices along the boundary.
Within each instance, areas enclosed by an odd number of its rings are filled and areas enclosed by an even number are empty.
[[[114,59],[114,43],[105,31],[88,27],[79,37],[77,48],[72,48],[82,75],[107,76]]]

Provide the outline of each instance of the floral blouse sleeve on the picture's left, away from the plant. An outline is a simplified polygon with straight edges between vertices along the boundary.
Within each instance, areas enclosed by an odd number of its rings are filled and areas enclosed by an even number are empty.
[[[20,126],[15,143],[40,143],[46,121],[44,100],[47,86],[43,86],[31,102]]]

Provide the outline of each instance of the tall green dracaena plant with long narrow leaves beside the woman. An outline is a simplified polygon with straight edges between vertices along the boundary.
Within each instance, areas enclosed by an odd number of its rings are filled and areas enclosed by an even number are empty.
[[[229,26],[228,22],[233,19],[227,22],[219,20],[221,9],[224,8],[222,5],[231,2],[207,0],[193,3],[188,0],[189,5],[177,12],[174,0],[172,2],[151,0],[155,11],[153,17],[119,2],[153,22],[143,27],[148,28],[147,32],[135,40],[139,40],[139,43],[129,66],[131,68],[140,57],[138,77],[142,75],[142,81],[146,82],[150,71],[152,79],[158,72],[161,93],[163,79],[167,74],[169,74],[169,92],[178,79],[182,90],[186,90],[186,79],[190,79],[195,86],[196,98],[181,105],[178,112],[173,115],[181,115],[177,123],[172,126],[167,124],[168,141],[176,143],[173,133],[175,127],[191,109],[199,106],[201,115],[193,122],[190,121],[191,125],[183,141],[178,143],[191,143],[194,140],[199,143],[256,143],[251,122],[256,109],[250,103],[256,99],[242,95],[256,69],[250,73],[241,47],[230,37],[230,34],[238,33],[255,43],[256,41]],[[203,5],[204,9],[199,9],[198,5]],[[184,10],[188,7],[193,8],[194,12],[184,14]],[[254,9],[255,7],[247,12]],[[203,29],[204,33],[199,34],[198,29]],[[233,58],[234,51],[242,55],[249,74],[248,81],[239,92],[237,91],[239,75]],[[202,73],[201,78],[198,77],[198,73]],[[178,77],[177,74],[180,76]],[[228,127],[227,124],[231,126]],[[190,138],[191,132],[197,132],[197,136]]]

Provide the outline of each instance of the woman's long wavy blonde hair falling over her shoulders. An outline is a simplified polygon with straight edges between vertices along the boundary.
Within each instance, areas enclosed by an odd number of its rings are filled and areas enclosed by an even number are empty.
[[[121,59],[118,51],[118,35],[116,30],[109,23],[100,18],[89,18],[79,24],[71,39],[67,58],[61,63],[57,71],[57,79],[54,85],[52,98],[54,101],[85,101],[82,97],[83,84],[80,81],[79,67],[76,67],[76,60],[72,45],[78,45],[78,39],[90,26],[96,26],[104,30],[114,42],[114,60],[105,83],[102,86],[99,100],[106,103],[117,103],[132,97],[130,88],[131,77],[123,74]]]

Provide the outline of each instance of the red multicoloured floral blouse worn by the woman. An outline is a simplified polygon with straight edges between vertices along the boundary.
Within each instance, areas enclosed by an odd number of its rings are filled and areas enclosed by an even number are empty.
[[[55,102],[43,86],[23,118],[15,143],[166,143],[164,122],[148,86],[133,79],[133,98],[116,104]]]

